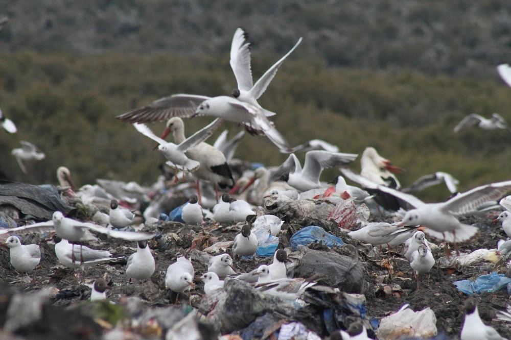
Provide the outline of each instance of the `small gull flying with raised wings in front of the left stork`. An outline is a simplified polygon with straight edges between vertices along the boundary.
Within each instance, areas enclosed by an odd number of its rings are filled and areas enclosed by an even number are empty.
[[[198,160],[189,158],[188,151],[190,149],[197,147],[199,143],[202,143],[204,140],[209,138],[213,134],[213,132],[215,132],[215,130],[220,126],[221,123],[222,120],[217,118],[213,120],[211,124],[200,129],[192,136],[179,141],[179,144],[177,145],[172,142],[167,142],[165,139],[156,136],[151,131],[151,129],[149,129],[149,127],[147,127],[145,124],[135,123],[133,124],[133,126],[138,132],[142,133],[146,137],[151,138],[152,140],[156,141],[159,144],[158,150],[167,159],[167,165],[179,169],[181,171],[193,172],[199,168],[201,163]],[[176,138],[174,137],[174,139]]]

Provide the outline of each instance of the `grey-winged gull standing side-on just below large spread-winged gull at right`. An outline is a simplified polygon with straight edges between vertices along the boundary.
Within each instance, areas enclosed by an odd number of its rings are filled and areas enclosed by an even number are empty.
[[[371,245],[397,246],[415,232],[415,228],[403,228],[398,223],[371,222],[363,228],[350,231],[348,235]]]

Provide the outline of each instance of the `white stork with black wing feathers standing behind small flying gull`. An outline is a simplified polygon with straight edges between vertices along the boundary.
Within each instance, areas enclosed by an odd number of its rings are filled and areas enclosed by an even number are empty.
[[[214,122],[217,122],[217,120],[214,120]],[[210,126],[212,124],[210,124]],[[181,118],[170,118],[165,131],[161,134],[161,138],[164,139],[171,132],[176,143],[184,142],[186,137],[184,136],[184,123]],[[197,196],[199,197],[199,204],[201,197],[198,184],[199,179],[213,182],[215,191],[217,185],[222,189],[234,186],[233,174],[230,171],[224,154],[218,149],[215,149],[212,145],[200,142],[195,145],[194,148],[188,149],[187,156],[190,160],[200,163],[200,166],[193,172],[193,176],[197,178]]]

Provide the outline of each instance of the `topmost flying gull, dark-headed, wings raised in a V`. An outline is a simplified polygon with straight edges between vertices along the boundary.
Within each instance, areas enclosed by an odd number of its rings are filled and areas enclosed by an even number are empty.
[[[265,116],[272,116],[275,113],[265,110],[259,105],[257,100],[264,93],[271,80],[275,76],[278,67],[282,65],[284,60],[294,51],[294,49],[300,44],[301,38],[286,53],[284,57],[274,63],[259,80],[253,84],[252,71],[250,69],[250,43],[247,42],[248,34],[241,28],[238,28],[233,36],[233,42],[230,46],[230,67],[233,68],[234,76],[238,82],[238,88],[233,91],[234,98],[238,100],[254,105],[258,109],[262,110]]]

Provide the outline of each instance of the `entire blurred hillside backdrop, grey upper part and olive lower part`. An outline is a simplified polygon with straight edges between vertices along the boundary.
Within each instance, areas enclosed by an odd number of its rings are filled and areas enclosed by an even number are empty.
[[[321,138],[343,152],[374,146],[407,168],[405,185],[435,171],[458,178],[460,190],[509,179],[508,132],[452,132],[472,112],[511,122],[511,88],[495,71],[511,62],[507,2],[8,2],[4,13],[0,108],[18,133],[0,130],[0,169],[14,180],[56,183],[65,165],[78,185],[154,182],[164,157],[114,116],[173,93],[230,93],[238,26],[254,41],[256,80],[304,37],[259,100],[277,112],[292,145]],[[211,120],[185,120],[187,135]],[[164,124],[151,128],[160,133]],[[208,142],[224,128],[239,131],[226,122]],[[11,156],[19,140],[47,154],[27,164],[28,175]],[[254,136],[237,156],[269,166],[287,158]],[[440,187],[424,195],[449,196]]]

